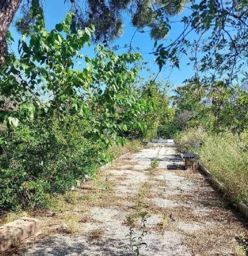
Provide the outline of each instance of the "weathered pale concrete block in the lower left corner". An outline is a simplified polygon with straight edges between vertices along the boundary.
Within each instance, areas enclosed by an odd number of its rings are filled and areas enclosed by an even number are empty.
[[[23,217],[0,227],[0,252],[19,244],[39,228],[39,220]]]

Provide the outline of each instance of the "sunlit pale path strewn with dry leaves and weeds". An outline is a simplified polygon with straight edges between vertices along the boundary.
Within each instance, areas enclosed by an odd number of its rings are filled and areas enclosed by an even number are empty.
[[[69,208],[38,216],[41,232],[16,255],[133,255],[126,235],[133,226],[139,237],[142,219],[140,255],[245,255],[236,239],[244,221],[197,171],[166,170],[180,162],[175,154],[154,147],[118,160],[75,191]]]

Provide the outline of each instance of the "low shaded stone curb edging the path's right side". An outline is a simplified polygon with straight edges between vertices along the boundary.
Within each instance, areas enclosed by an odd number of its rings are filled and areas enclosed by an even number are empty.
[[[226,190],[225,186],[223,184],[221,184],[218,180],[216,180],[214,178],[214,176],[212,176],[212,174],[210,173],[209,170],[207,170],[205,168],[205,166],[203,166],[203,164],[199,163],[199,168],[198,168],[201,173],[203,173],[205,176],[207,176],[207,178],[209,178],[209,180],[211,181],[212,186],[214,186],[215,189],[217,189],[221,194],[224,195],[224,197],[226,199],[230,199],[228,198],[228,191]],[[244,203],[237,203],[237,209],[239,209],[240,213],[248,219],[248,206]]]

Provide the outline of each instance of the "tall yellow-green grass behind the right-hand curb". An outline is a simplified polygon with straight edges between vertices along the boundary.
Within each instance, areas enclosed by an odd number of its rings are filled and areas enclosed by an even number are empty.
[[[209,136],[200,160],[237,200],[248,203],[248,133]]]

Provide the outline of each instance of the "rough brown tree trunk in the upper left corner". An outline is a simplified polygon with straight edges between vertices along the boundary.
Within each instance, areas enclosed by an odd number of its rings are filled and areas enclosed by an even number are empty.
[[[22,0],[0,0],[0,66],[7,51],[6,33]]]

